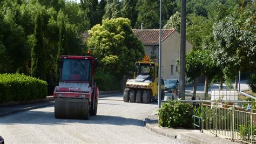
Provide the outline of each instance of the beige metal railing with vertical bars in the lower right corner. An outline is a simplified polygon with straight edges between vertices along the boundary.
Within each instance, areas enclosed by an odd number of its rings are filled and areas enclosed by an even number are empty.
[[[232,141],[255,142],[255,109],[221,102],[201,103],[202,129]]]

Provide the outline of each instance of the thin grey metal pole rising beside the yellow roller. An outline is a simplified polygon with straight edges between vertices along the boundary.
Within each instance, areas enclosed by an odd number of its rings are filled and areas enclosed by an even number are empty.
[[[159,18],[158,108],[161,108],[161,0],[160,0],[160,18]]]

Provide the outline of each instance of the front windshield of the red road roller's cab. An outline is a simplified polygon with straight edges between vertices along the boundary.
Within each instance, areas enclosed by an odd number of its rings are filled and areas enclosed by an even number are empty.
[[[64,59],[61,78],[62,81],[89,81],[90,60]]]

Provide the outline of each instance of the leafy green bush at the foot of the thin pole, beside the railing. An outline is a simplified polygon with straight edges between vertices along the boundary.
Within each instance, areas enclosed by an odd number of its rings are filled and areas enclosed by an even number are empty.
[[[188,103],[169,100],[158,110],[158,125],[161,127],[184,127],[192,125],[192,106]]]

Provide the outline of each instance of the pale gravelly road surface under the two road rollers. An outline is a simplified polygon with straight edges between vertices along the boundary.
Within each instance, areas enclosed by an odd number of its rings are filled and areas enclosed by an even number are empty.
[[[100,98],[89,120],[55,119],[54,106],[0,118],[5,143],[188,143],[148,131],[144,119],[153,104],[123,102],[122,95]]]

